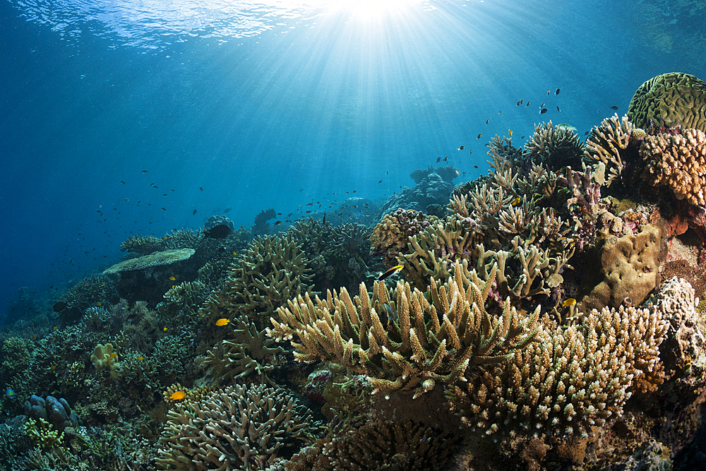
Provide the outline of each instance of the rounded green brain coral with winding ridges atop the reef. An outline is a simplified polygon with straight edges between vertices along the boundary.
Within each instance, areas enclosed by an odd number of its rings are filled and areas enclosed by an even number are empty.
[[[650,78],[630,100],[628,119],[638,128],[647,129],[652,121],[658,127],[706,131],[706,83],[681,72]]]

